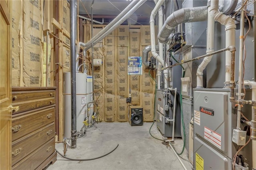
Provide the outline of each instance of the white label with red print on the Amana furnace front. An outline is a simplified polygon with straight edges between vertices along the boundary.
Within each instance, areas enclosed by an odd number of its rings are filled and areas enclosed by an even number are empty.
[[[217,148],[221,148],[221,135],[214,132],[208,127],[204,127],[204,138],[214,144]]]

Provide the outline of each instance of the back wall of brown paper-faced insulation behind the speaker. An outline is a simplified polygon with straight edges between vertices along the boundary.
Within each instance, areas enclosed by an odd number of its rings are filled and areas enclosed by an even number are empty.
[[[102,28],[104,26],[94,25],[94,36]],[[84,42],[90,38],[91,25],[87,23],[84,24]],[[143,121],[153,121],[155,84],[149,70],[142,65],[142,75],[128,75],[128,57],[141,57],[147,45],[150,45],[149,26],[119,26],[94,45],[94,58],[103,61],[103,65],[94,67],[94,99],[99,104],[100,121],[128,121],[129,105],[142,106]],[[90,65],[92,49],[87,51],[87,60]],[[91,73],[88,70],[88,75]],[[155,73],[151,71],[150,74],[154,77]],[[132,103],[126,103],[129,94]]]

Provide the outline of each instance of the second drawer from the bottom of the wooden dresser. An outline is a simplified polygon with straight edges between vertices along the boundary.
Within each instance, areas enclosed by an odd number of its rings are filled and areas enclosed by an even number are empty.
[[[12,166],[45,144],[54,135],[55,126],[54,123],[51,123],[12,142]]]

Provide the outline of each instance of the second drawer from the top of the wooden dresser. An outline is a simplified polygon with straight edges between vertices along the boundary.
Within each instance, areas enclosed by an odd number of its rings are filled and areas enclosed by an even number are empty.
[[[12,118],[12,141],[54,122],[54,106],[15,115],[17,117]]]

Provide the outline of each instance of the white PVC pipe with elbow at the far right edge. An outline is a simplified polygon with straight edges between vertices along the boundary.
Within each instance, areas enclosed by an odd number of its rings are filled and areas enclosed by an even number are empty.
[[[244,81],[244,85],[250,85],[252,87],[252,100],[256,101],[256,82]],[[254,109],[252,109],[252,121],[255,121],[254,117]],[[252,169],[256,169],[256,140],[252,140]]]

